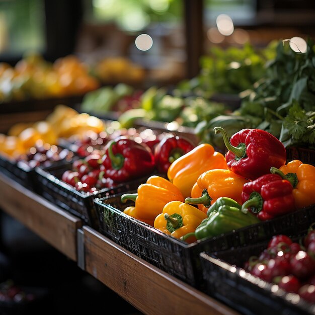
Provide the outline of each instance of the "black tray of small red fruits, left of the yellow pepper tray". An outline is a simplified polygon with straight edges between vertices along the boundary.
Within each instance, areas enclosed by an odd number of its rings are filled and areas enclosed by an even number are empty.
[[[62,174],[66,170],[70,170],[71,167],[72,163],[51,166],[45,169],[36,168],[35,172],[39,183],[37,193],[62,209],[80,217],[85,224],[92,226],[97,231],[99,231],[99,219],[93,199],[137,189],[149,177],[122,183],[115,187],[103,188],[88,195],[75,190],[71,185],[60,180]]]

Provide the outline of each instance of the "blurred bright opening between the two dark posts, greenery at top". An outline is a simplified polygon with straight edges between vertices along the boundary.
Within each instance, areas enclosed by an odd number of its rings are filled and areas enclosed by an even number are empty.
[[[89,61],[124,57],[153,81],[185,75],[182,0],[85,0],[76,53]]]

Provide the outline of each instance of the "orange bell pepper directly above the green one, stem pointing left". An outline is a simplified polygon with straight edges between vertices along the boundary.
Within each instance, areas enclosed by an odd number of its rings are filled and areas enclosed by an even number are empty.
[[[247,182],[246,178],[229,170],[209,170],[198,177],[191,198],[185,198],[185,202],[197,204],[205,213],[219,197],[229,197],[241,203],[243,185]]]

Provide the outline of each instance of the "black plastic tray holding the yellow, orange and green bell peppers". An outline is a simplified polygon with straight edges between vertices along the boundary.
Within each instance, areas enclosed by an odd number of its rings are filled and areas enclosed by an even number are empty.
[[[94,199],[100,232],[145,261],[201,290],[204,286],[199,257],[201,252],[211,253],[255,244],[279,231],[298,234],[315,221],[314,205],[218,237],[187,244],[123,213],[125,207],[134,203],[122,203],[121,195]]]

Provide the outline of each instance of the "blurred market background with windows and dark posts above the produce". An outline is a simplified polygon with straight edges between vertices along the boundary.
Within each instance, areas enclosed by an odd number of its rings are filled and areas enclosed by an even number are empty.
[[[3,0],[0,60],[75,54],[89,64],[103,60],[103,68],[134,63],[133,83],[143,76],[146,86],[174,83],[196,75],[212,46],[307,38],[314,17],[312,0]]]

